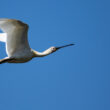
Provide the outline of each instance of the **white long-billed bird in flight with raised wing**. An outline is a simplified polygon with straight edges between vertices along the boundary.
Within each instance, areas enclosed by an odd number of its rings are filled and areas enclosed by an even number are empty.
[[[6,43],[7,57],[0,60],[2,63],[24,63],[34,57],[43,57],[55,52],[63,47],[74,44],[64,45],[61,47],[50,47],[49,49],[38,52],[30,48],[28,43],[28,25],[15,19],[0,19],[0,41]]]

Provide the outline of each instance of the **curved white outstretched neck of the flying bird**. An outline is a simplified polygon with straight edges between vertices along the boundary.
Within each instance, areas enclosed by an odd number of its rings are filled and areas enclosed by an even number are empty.
[[[32,50],[33,52],[33,57],[44,57],[44,56],[47,56],[49,54],[52,53],[52,50],[49,48],[43,52],[38,52],[38,51],[35,51],[35,50]]]

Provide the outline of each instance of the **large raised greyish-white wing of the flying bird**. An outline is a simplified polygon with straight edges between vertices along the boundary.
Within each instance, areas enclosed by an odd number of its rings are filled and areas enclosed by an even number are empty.
[[[28,25],[14,19],[0,19],[0,28],[7,34],[6,38],[0,38],[1,41],[6,41],[6,52],[8,56],[23,53],[30,50],[27,32]]]

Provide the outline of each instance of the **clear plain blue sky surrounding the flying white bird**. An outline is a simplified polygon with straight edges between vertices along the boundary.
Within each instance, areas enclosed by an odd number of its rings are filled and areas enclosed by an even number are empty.
[[[28,23],[38,51],[76,44],[0,65],[0,110],[110,110],[109,0],[0,0],[0,18]]]

